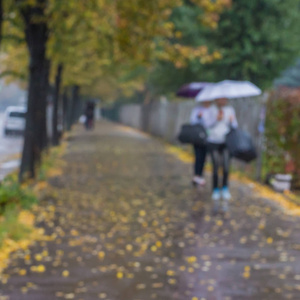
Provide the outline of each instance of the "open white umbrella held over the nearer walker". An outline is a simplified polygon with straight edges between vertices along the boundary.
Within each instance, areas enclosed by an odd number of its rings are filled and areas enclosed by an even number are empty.
[[[218,98],[244,98],[260,94],[261,90],[249,81],[224,80],[204,87],[196,95],[196,101],[212,101]]]

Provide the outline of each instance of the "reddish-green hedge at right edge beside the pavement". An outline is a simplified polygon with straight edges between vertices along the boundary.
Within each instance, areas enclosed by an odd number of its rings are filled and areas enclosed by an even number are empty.
[[[280,88],[267,104],[265,168],[269,173],[291,173],[300,188],[300,90]]]

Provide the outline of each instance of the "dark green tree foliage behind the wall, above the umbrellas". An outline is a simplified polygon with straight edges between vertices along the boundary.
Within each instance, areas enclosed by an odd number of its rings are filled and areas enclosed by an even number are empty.
[[[217,51],[217,56],[193,59],[181,68],[156,61],[148,79],[154,93],[174,95],[183,83],[226,78],[266,88],[299,55],[299,0],[235,0],[220,14],[216,28],[196,26],[200,13],[197,7],[183,5],[171,20],[182,43],[204,45],[207,53]]]

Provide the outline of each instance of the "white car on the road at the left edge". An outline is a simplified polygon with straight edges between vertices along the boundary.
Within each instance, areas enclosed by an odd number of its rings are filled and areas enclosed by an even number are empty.
[[[22,106],[9,106],[5,110],[4,134],[23,133],[25,130],[26,108]]]

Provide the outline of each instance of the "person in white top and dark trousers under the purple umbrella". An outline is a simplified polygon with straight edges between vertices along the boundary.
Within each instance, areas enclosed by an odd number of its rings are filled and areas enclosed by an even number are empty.
[[[209,115],[211,103],[211,101],[205,101],[195,106],[191,112],[190,123],[193,125],[201,124],[205,128],[209,127],[211,125],[211,121],[213,120],[213,118]],[[207,155],[207,146],[193,145],[193,148],[195,161],[194,177],[192,182],[194,185],[203,186],[206,183],[205,178],[203,176],[203,171]]]

